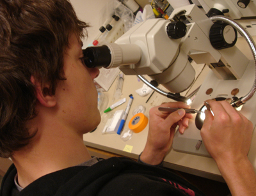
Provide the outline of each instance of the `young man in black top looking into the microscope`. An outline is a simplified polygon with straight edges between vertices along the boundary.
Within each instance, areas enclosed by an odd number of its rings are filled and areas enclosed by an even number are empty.
[[[150,110],[140,163],[89,155],[83,134],[100,122],[93,85],[99,70],[84,64],[87,24],[67,0],[1,0],[0,23],[0,156],[14,163],[0,195],[203,195],[159,168],[176,126],[180,132],[188,126],[191,116],[183,109]],[[231,192],[253,195],[255,174],[246,156],[252,123],[226,102],[209,104],[214,118],[207,113],[205,145]],[[181,102],[161,106],[188,108]]]

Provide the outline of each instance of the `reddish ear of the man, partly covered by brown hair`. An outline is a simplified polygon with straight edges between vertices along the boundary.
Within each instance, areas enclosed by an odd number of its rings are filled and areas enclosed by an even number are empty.
[[[56,105],[56,97],[54,94],[51,94],[49,89],[49,84],[41,85],[38,80],[32,75],[30,78],[31,82],[35,85],[36,89],[36,98],[45,107],[54,107]]]

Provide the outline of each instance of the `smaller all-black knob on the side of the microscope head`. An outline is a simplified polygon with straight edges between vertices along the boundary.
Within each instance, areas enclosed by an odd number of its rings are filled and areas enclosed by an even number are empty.
[[[170,22],[166,27],[166,33],[169,38],[177,40],[185,36],[187,33],[187,26],[184,22],[180,21]]]

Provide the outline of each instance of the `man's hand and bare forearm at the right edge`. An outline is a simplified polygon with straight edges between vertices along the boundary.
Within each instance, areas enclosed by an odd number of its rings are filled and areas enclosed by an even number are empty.
[[[248,160],[253,124],[226,101],[207,100],[201,129],[204,145],[216,161],[232,195],[256,195],[256,175]]]

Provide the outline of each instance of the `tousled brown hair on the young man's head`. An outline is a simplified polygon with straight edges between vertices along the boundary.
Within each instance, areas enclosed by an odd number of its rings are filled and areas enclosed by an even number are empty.
[[[27,146],[26,122],[36,116],[35,86],[50,83],[54,94],[63,75],[68,38],[87,36],[88,24],[77,19],[68,0],[0,1],[0,156]]]

